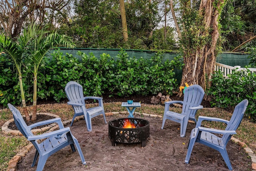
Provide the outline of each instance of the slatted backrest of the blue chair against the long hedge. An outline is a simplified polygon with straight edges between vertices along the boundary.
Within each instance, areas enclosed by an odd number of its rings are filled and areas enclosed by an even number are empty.
[[[82,85],[76,83],[76,82],[68,82],[65,88],[67,97],[69,101],[75,102],[75,103],[80,103],[85,105],[84,101],[84,92],[83,92],[83,87]],[[82,107],[74,107],[75,113],[81,113]]]

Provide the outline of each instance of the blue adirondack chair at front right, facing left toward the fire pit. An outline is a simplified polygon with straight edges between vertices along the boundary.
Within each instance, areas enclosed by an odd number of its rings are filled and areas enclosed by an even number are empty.
[[[247,105],[248,105],[247,99],[241,101],[238,105],[236,105],[233,115],[230,118],[230,121],[216,118],[216,117],[199,116],[196,127],[192,129],[190,134],[190,141],[188,144],[188,152],[186,155],[185,163],[189,162],[194,144],[195,142],[198,142],[219,151],[224,161],[226,162],[228,169],[232,170],[232,166],[226,150],[226,145],[230,140],[231,136],[233,134],[236,134],[236,129],[238,128],[238,126],[242,121]],[[201,127],[202,121],[220,121],[220,122],[226,123],[227,125],[225,130],[212,129],[212,128]],[[214,133],[222,134],[222,137],[218,137]]]

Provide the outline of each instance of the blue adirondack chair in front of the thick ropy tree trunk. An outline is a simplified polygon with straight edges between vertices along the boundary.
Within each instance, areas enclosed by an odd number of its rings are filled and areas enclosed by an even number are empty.
[[[161,129],[164,128],[166,119],[180,123],[180,137],[185,137],[188,120],[196,123],[196,111],[202,109],[200,105],[204,97],[204,89],[200,85],[191,85],[184,90],[183,101],[166,101],[164,107],[164,117]],[[181,103],[182,113],[170,111],[170,104]]]

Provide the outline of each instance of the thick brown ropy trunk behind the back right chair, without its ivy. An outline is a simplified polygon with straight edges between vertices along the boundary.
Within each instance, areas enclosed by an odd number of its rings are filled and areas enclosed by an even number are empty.
[[[218,30],[218,17],[220,15],[221,8],[224,4],[223,0],[218,1],[217,4],[213,4],[213,0],[202,0],[200,5],[199,15],[202,16],[202,22],[196,23],[195,30],[192,33],[198,33],[195,38],[208,38],[204,42],[200,42],[196,48],[193,46],[184,46],[183,59],[184,68],[182,70],[181,86],[184,86],[187,82],[190,84],[198,84],[204,90],[206,87],[211,86],[211,74],[214,72],[217,42],[219,38]],[[200,29],[197,26],[203,26]],[[183,38],[183,40],[190,39],[189,37]],[[184,44],[183,44],[184,45]]]

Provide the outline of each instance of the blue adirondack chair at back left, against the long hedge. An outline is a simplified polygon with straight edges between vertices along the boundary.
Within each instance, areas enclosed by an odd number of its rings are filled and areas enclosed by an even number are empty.
[[[95,96],[84,97],[82,85],[73,81],[68,82],[68,84],[65,87],[65,92],[69,100],[68,104],[72,105],[75,112],[70,126],[73,125],[74,119],[80,115],[84,115],[84,119],[85,119],[88,131],[92,131],[92,118],[100,114],[103,115],[104,121],[105,123],[107,123],[102,97],[95,97]],[[99,106],[86,109],[85,107],[86,99],[98,100]]]

